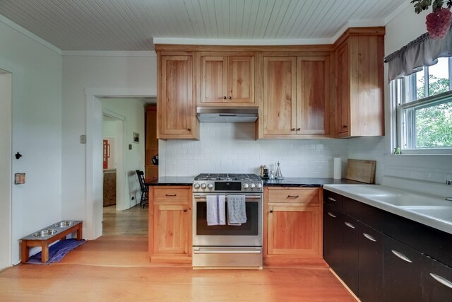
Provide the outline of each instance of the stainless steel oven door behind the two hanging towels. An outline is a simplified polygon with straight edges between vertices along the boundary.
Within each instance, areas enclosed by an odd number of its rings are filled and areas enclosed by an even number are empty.
[[[215,193],[210,193],[215,195]],[[245,195],[246,223],[240,226],[208,226],[206,196],[193,194],[193,245],[194,246],[262,246],[262,193]],[[227,209],[227,199],[226,199]]]

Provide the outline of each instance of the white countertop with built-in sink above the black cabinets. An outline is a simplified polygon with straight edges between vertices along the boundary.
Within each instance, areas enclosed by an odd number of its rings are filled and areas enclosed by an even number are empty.
[[[323,185],[323,189],[452,234],[452,202],[385,185]]]

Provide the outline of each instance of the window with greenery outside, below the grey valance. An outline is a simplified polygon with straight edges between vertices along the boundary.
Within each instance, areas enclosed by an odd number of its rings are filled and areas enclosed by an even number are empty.
[[[451,78],[452,57],[448,57],[391,81],[391,98],[397,108],[396,146],[405,153],[451,151]]]

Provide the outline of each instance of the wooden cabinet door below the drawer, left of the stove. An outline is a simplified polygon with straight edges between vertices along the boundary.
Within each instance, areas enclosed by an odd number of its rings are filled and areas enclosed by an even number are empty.
[[[155,253],[189,253],[189,214],[187,204],[154,205]]]

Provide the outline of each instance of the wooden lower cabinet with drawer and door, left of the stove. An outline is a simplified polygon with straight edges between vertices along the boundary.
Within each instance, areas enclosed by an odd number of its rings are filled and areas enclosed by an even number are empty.
[[[149,192],[150,262],[191,263],[191,187]]]

